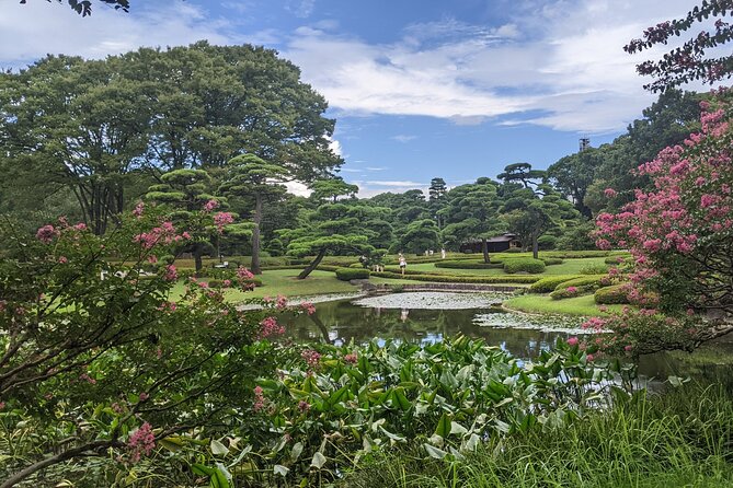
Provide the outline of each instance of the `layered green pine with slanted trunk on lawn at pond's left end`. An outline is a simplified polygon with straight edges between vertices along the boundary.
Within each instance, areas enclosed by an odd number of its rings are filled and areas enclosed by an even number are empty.
[[[294,257],[314,256],[312,262],[298,275],[306,279],[321,263],[327,254],[369,255],[376,249],[369,243],[374,232],[363,225],[358,205],[339,201],[339,198],[351,197],[358,187],[343,181],[330,181],[328,184],[316,182],[316,188],[322,191],[316,198],[314,210],[307,210],[305,224],[297,229],[284,230],[280,235],[287,241],[287,254]],[[324,188],[329,188],[328,191]]]

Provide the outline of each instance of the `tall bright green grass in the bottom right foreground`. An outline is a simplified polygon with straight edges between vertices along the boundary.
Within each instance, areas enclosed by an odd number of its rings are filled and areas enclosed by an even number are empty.
[[[574,420],[492,440],[462,461],[375,455],[344,486],[733,487],[733,397],[722,386],[644,394]]]

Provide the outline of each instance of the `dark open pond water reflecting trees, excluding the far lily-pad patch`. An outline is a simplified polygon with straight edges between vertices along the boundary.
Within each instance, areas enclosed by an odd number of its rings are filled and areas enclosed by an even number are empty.
[[[492,315],[493,314],[493,315]],[[479,326],[492,322],[503,328]],[[513,321],[516,321],[512,328]],[[496,314],[491,309],[473,310],[419,310],[363,307],[351,300],[319,303],[313,315],[284,317],[288,335],[299,341],[327,341],[335,345],[368,342],[379,344],[388,338],[434,344],[463,334],[481,337],[488,345],[497,346],[513,356],[530,359],[549,349],[558,337],[563,340],[575,335],[572,330],[552,332],[527,327],[527,317],[514,314]],[[566,326],[566,324],[564,324]],[[730,374],[733,360],[733,336],[698,349],[694,355],[665,352],[640,360],[640,373],[650,377],[665,379],[668,375],[692,376],[708,380],[725,380],[733,387]]]

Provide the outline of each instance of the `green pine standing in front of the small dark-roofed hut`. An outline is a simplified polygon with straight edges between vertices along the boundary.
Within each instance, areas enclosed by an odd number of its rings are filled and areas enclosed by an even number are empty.
[[[497,185],[489,178],[453,188],[446,195],[443,241],[457,248],[462,242],[481,240],[484,263],[490,262],[488,240],[506,230],[499,216]]]

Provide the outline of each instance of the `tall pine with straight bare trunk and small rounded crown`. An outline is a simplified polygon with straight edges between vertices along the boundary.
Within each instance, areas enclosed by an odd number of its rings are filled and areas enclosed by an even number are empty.
[[[287,188],[282,183],[286,182],[288,176],[285,167],[270,164],[254,154],[238,155],[227,164],[225,182],[219,187],[219,191],[230,200],[245,200],[245,207],[253,208],[251,271],[255,275],[262,275],[260,235],[263,206],[283,198]]]

